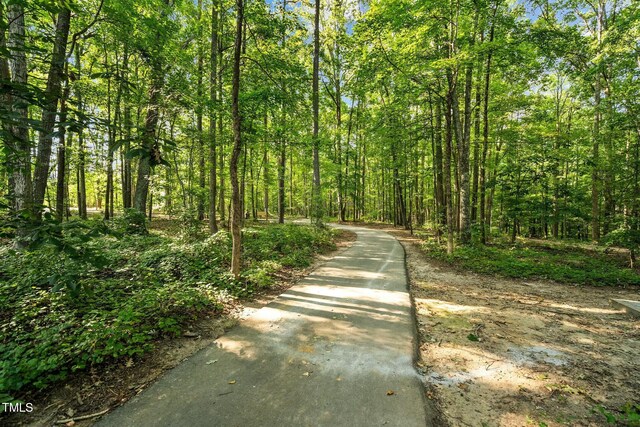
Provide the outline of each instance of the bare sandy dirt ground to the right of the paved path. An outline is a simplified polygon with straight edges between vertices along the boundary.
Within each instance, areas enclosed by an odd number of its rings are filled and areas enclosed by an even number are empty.
[[[640,425],[640,322],[610,304],[637,288],[470,273],[376,228],[405,248],[419,367],[449,425]]]

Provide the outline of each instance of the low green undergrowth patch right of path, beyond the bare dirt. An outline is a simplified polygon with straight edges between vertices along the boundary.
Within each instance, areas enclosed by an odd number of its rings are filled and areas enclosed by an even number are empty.
[[[460,246],[452,255],[434,241],[426,241],[422,248],[430,257],[478,273],[581,285],[640,285],[640,274],[616,257],[557,242]]]

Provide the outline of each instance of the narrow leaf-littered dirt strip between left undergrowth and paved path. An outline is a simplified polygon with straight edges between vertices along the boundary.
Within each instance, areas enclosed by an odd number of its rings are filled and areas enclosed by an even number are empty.
[[[156,348],[140,358],[124,360],[118,364],[103,365],[70,377],[56,388],[33,396],[31,413],[13,414],[0,418],[0,426],[90,426],[95,418],[87,415],[102,414],[122,405],[151,385],[165,371],[174,368],[197,351],[212,345],[225,331],[239,320],[264,307],[278,295],[293,286],[356,240],[356,234],[340,230],[334,238],[336,250],[316,257],[305,269],[283,269],[276,274],[276,284],[251,300],[241,301],[220,316],[207,316],[190,325],[182,337],[156,343]],[[77,421],[72,421],[77,420]]]

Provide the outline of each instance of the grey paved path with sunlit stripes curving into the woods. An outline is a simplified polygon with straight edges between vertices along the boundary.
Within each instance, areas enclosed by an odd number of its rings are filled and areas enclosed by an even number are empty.
[[[357,241],[98,426],[425,426],[402,246]]]

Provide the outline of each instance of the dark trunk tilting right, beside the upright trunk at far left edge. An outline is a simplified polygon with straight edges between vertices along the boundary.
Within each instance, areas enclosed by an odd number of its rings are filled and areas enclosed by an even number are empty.
[[[61,95],[61,83],[64,78],[64,64],[67,52],[67,39],[71,23],[71,10],[63,7],[58,13],[56,22],[53,54],[47,77],[44,105],[42,107],[41,130],[38,137],[38,154],[34,173],[34,208],[38,218],[42,215],[44,195],[49,178],[49,162],[51,160],[51,145],[55,127],[58,101]]]

